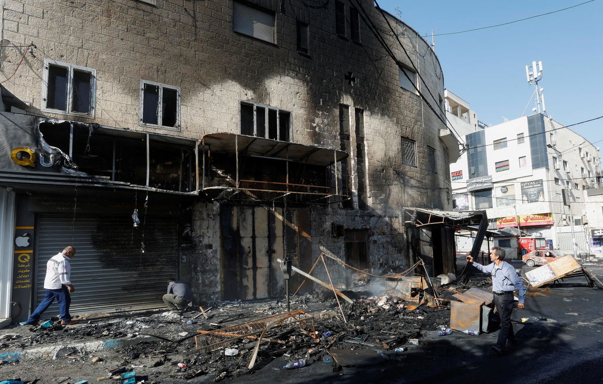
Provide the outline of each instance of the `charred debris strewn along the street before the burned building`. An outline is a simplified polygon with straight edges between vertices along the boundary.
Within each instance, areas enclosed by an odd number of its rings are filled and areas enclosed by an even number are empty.
[[[332,364],[333,372],[357,364],[402,361],[409,348],[418,348],[426,332],[448,326],[453,294],[489,283],[485,277],[473,277],[467,284],[441,285],[433,277],[428,282],[420,268],[420,263],[414,266],[416,276],[405,271],[409,277],[358,271],[352,289],[339,292],[331,286],[332,290],[294,295],[289,303],[211,302],[191,307],[182,317],[160,309],[81,315],[76,326],[46,323],[13,329],[1,337],[0,349],[62,344],[65,347],[55,353],[55,359],[104,364],[99,371],[106,370],[107,376],[99,380],[124,380],[109,370],[124,368],[122,373],[135,371],[136,380],[144,377],[145,383],[194,377],[219,382],[259,370],[278,358],[283,365]],[[352,303],[341,297],[336,300],[335,293],[350,297]],[[121,346],[110,353],[70,347],[115,339],[121,340]]]

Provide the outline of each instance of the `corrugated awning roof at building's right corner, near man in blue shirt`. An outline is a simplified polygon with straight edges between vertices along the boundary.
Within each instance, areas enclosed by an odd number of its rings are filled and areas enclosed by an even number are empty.
[[[404,208],[409,222],[417,227],[428,225],[470,226],[479,225],[484,211],[450,212],[440,209]]]

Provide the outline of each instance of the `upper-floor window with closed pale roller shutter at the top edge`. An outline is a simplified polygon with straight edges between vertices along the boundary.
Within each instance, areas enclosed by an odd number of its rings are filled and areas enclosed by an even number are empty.
[[[274,43],[274,13],[233,3],[233,31]]]

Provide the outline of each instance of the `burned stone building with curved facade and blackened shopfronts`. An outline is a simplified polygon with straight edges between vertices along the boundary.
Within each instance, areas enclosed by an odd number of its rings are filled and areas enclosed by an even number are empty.
[[[175,275],[197,300],[277,297],[277,259],[321,252],[449,272],[441,229],[402,208],[452,208],[443,72],[372,2],[10,1],[2,19],[0,317],[27,315],[69,244],[76,312],[157,305]]]

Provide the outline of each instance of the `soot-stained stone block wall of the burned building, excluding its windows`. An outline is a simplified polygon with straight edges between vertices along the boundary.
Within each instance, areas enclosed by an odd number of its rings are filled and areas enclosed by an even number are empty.
[[[311,211],[312,256],[346,258],[344,237],[332,225],[367,234],[368,267],[408,265],[403,206],[451,209],[446,129],[416,91],[400,87],[399,67],[365,20],[376,25],[404,66],[418,69],[418,88],[435,110],[443,100],[443,72],[428,44],[409,26],[373,2],[344,2],[346,36],[336,33],[334,1],[245,2],[274,14],[275,42],[233,31],[233,2],[157,0],[5,0],[2,19],[4,85],[31,110],[59,119],[201,138],[239,132],[241,102],[291,111],[295,143],[340,148],[339,105],[350,107],[350,169],[354,208],[333,204]],[[361,4],[361,7],[359,7]],[[361,13],[359,41],[350,35],[350,9]],[[297,22],[309,26],[308,54],[297,52]],[[33,43],[33,54],[27,45]],[[22,46],[22,47],[19,47]],[[409,57],[405,52],[408,52]],[[43,109],[43,61],[95,69],[93,117]],[[180,88],[180,126],[175,131],[140,124],[140,81]],[[432,99],[431,94],[435,100]],[[358,209],[359,173],[354,108],[364,111],[368,209]],[[440,117],[443,113],[440,114]],[[403,162],[402,138],[414,141],[416,164]],[[430,165],[429,151],[435,151]],[[432,158],[433,160],[433,158]],[[435,168],[434,168],[435,167]],[[192,279],[200,298],[221,293],[218,203],[198,203],[193,214]],[[335,273],[343,282],[344,273]]]

